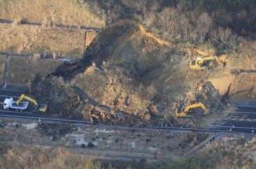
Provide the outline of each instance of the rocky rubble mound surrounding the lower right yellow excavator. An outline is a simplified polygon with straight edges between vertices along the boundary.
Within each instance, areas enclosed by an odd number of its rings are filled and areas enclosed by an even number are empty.
[[[219,91],[212,86],[212,83],[206,82],[196,86],[192,86],[188,92],[184,92],[178,99],[178,101],[172,104],[172,111],[181,110],[184,106],[190,106],[194,103],[203,103],[208,110],[208,114],[204,115],[204,110],[201,108],[194,108],[188,112],[190,118],[176,118],[175,115],[165,114],[166,119],[169,119],[167,123],[175,126],[199,126],[202,118],[212,118],[211,115],[216,115],[223,110],[222,97]]]

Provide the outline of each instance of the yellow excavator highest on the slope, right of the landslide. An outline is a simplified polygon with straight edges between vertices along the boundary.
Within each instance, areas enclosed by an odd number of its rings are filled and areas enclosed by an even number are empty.
[[[190,68],[194,70],[204,70],[207,68],[208,64],[207,61],[217,61],[218,64],[226,64],[227,55],[223,54],[219,57],[217,56],[210,56],[207,52],[203,52],[202,50],[194,49],[192,52],[196,52],[200,54],[202,57],[196,57],[196,59],[190,60]]]

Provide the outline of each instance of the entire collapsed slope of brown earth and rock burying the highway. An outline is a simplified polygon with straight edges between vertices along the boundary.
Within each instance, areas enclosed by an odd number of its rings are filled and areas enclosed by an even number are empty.
[[[201,78],[194,79],[198,74],[187,74],[188,60],[176,46],[145,32],[135,21],[121,20],[95,37],[81,62],[37,79],[33,93],[51,103],[48,113],[79,115],[92,122],[179,125],[172,103],[201,83]],[[219,108],[219,92],[207,90],[204,97],[194,96],[186,104],[202,101],[210,103],[210,110]]]

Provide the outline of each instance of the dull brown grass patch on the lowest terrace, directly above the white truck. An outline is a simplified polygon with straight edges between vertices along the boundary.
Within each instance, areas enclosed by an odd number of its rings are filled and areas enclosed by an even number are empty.
[[[11,57],[8,83],[30,86],[30,82],[35,79],[37,74],[40,77],[45,77],[54,72],[61,63],[57,60]]]

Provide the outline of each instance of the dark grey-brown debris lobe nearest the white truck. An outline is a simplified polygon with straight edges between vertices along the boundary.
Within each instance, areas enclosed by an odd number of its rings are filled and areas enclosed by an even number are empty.
[[[60,115],[78,119],[82,115],[83,100],[75,90],[65,83],[62,77],[48,77],[35,79],[31,86],[32,93],[40,103],[47,103],[48,115]]]

